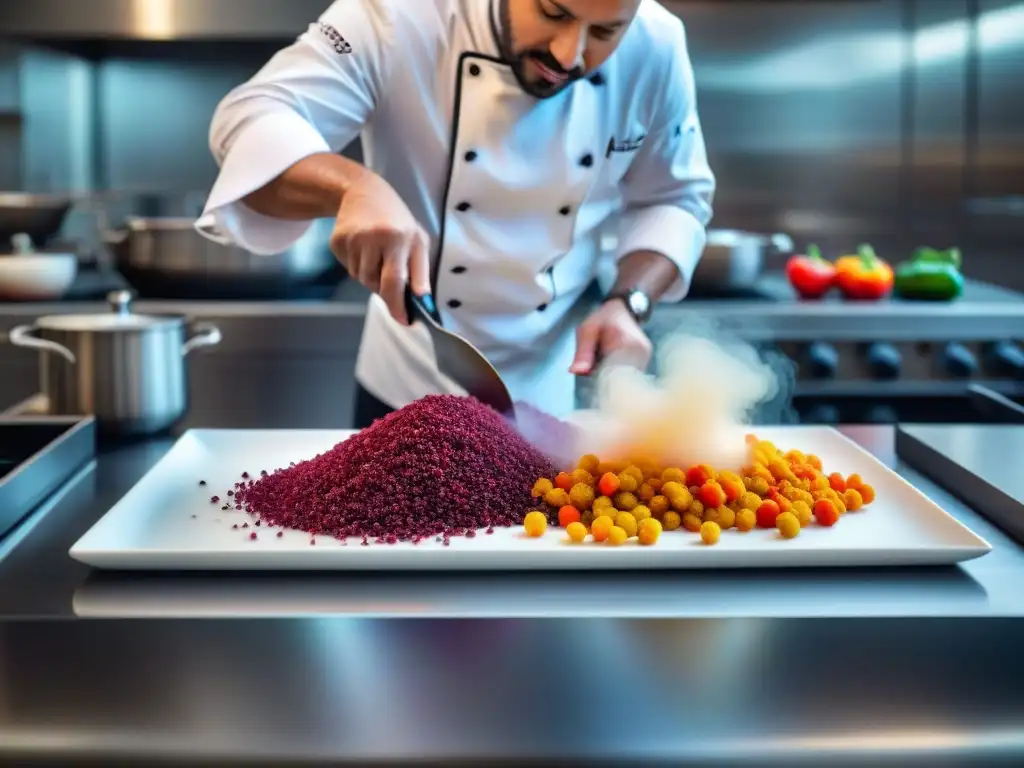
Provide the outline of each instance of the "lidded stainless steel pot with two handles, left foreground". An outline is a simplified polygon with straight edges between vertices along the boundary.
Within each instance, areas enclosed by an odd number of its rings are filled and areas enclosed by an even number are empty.
[[[186,357],[220,343],[220,331],[182,315],[135,314],[132,294],[109,296],[109,314],[55,314],[10,331],[37,349],[42,392],[54,415],[94,415],[104,433],[142,435],[188,410]]]

